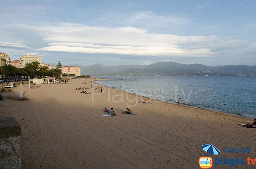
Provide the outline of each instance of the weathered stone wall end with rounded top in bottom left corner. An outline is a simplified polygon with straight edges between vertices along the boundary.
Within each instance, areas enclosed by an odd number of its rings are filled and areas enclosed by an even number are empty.
[[[0,117],[0,169],[20,169],[20,125],[12,117]]]

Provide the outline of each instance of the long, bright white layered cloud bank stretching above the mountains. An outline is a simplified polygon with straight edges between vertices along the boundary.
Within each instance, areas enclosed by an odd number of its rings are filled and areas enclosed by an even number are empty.
[[[29,32],[33,37],[47,43],[48,46],[38,49],[41,51],[157,57],[210,57],[218,54],[213,51],[234,47],[240,49],[246,46],[245,41],[233,40],[231,37],[151,34],[144,29],[131,26],[96,27],[61,23],[55,27],[24,24],[12,24],[7,27],[14,31],[18,29],[21,32]]]

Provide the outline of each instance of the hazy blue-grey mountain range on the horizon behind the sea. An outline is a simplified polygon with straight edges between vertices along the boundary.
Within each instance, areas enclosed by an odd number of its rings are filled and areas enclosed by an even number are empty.
[[[181,64],[175,62],[158,62],[151,65],[121,65],[103,66],[95,64],[91,66],[79,66],[81,74],[84,75],[166,75],[166,76],[225,76],[225,75],[256,75],[256,66],[227,65],[227,66],[206,66],[202,64]]]

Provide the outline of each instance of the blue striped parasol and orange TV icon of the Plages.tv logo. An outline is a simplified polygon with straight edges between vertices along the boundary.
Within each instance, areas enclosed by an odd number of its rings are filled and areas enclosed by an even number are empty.
[[[200,157],[198,160],[199,166],[202,169],[209,169],[212,167],[212,158],[209,157],[209,154],[219,155],[221,151],[213,146],[212,144],[203,144],[202,149],[207,152],[207,157]]]

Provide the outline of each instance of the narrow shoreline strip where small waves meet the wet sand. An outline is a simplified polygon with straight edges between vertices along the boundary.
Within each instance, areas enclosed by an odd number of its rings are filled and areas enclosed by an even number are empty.
[[[96,81],[107,81],[107,80],[110,80],[110,79],[99,79],[98,77],[92,77],[92,78],[97,79]],[[100,86],[105,86],[105,85],[101,85],[99,83],[94,83],[94,80],[91,80],[90,82],[93,83],[93,84],[100,85]],[[119,91],[131,94],[131,95],[134,95],[134,96],[147,98],[147,99],[150,99],[150,100],[156,100],[156,101],[161,101],[161,102],[172,104],[172,105],[178,105],[176,103],[169,102],[168,100],[158,100],[158,99],[155,99],[155,98],[150,98],[150,97],[146,97],[146,96],[136,95],[134,93],[131,93],[131,92],[128,92],[128,91],[124,91],[122,89],[114,88],[114,87],[111,87],[111,86],[105,86],[105,87],[111,88],[111,89],[117,89]],[[203,110],[207,110],[207,111],[210,111],[210,112],[213,112],[213,113],[219,113],[221,115],[228,115],[228,116],[234,116],[234,117],[243,117],[245,119],[250,119],[250,120],[254,119],[254,117],[248,117],[248,116],[243,116],[243,115],[240,115],[240,114],[229,113],[229,112],[222,112],[221,110],[212,110],[212,109],[207,109],[207,108],[204,108],[204,107],[197,107],[197,106],[191,106],[191,105],[186,105],[186,104],[182,104],[181,106],[186,106],[186,107],[193,108],[193,109],[203,109]]]

